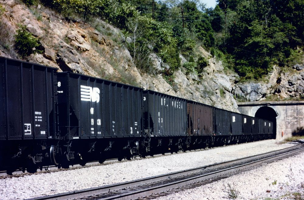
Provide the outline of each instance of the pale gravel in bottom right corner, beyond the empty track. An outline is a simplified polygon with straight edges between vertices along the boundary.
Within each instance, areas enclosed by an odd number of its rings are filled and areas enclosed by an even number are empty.
[[[269,192],[267,192],[269,190]],[[304,153],[157,200],[304,199]]]

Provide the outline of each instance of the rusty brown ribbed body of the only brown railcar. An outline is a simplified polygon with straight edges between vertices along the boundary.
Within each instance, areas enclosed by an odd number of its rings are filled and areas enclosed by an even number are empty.
[[[207,136],[213,134],[213,107],[188,101],[188,135]]]

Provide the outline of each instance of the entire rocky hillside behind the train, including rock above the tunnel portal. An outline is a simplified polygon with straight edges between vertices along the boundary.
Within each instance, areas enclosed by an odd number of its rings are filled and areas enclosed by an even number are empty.
[[[143,68],[134,52],[130,52],[132,38],[125,30],[112,26],[101,17],[91,16],[86,20],[79,16],[69,18],[39,1],[26,5],[21,1],[7,0],[1,5],[0,56],[3,57],[131,84],[232,111],[237,111],[236,99],[303,98],[304,60],[301,59],[299,64],[293,65],[294,69],[273,65],[264,79],[239,82],[242,77],[226,61],[222,63],[223,57],[214,55],[212,49],[204,45],[196,44],[193,49],[195,59],[206,61],[199,73],[192,66],[193,58],[187,57],[185,52],[178,53],[176,58],[180,67],[171,70],[173,61],[159,52],[150,51],[146,55],[148,63]],[[26,56],[20,54],[14,42],[20,32],[29,32],[32,40],[37,40],[33,53]],[[303,56],[301,49],[297,51]]]

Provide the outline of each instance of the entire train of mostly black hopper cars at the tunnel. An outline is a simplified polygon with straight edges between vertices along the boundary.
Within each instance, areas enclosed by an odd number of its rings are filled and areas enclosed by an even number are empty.
[[[269,139],[273,122],[0,57],[0,170]]]

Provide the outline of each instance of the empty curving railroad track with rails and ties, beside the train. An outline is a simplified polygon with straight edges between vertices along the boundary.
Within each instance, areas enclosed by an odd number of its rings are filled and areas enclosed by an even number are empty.
[[[184,189],[194,188],[222,178],[231,176],[241,170],[249,170],[255,165],[282,159],[292,154],[302,152],[303,145],[282,150],[263,153],[255,156],[212,164],[194,169],[173,172],[135,181],[106,185],[97,188],[84,189],[57,195],[49,195],[29,200],[46,199],[151,199],[168,195]]]

